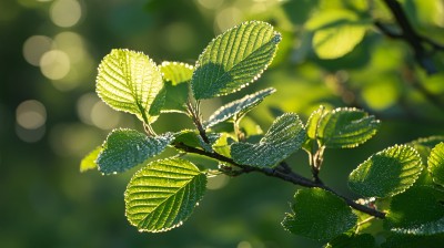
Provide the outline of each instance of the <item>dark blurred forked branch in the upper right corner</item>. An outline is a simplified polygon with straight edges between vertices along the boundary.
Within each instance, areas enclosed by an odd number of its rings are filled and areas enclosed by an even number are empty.
[[[401,32],[396,33],[393,30],[385,27],[382,22],[375,21],[374,24],[383,32],[385,35],[405,40],[414,51],[415,60],[417,63],[427,72],[427,74],[437,73],[437,69],[430,58],[430,52],[427,52],[424,43],[432,45],[434,50],[443,50],[444,45],[438,44],[431,39],[418,34],[408,21],[402,6],[397,0],[383,0],[387,6],[393,17],[396,20],[397,25],[401,28]]]

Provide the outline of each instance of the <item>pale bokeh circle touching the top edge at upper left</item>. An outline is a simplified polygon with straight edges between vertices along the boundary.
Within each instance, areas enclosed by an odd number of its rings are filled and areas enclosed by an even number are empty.
[[[50,17],[61,28],[73,27],[82,17],[82,8],[75,0],[57,0],[51,6]]]

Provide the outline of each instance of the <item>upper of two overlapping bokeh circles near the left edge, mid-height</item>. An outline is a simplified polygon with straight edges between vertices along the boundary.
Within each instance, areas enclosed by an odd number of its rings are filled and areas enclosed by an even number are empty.
[[[28,100],[17,107],[16,120],[23,128],[37,130],[47,122],[47,110],[39,101]]]

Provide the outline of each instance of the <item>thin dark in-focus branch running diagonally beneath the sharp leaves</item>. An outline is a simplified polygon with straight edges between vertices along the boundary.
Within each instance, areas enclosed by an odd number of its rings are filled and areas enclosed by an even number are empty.
[[[322,189],[331,192],[334,195],[336,195],[337,197],[342,198],[343,200],[345,200],[345,203],[350,207],[352,207],[352,208],[354,208],[356,210],[366,213],[366,214],[372,215],[372,216],[374,216],[376,218],[381,218],[381,219],[385,218],[385,213],[379,211],[379,210],[376,210],[374,208],[370,208],[370,207],[367,207],[365,205],[357,204],[353,199],[336,193],[335,190],[333,190],[332,188],[325,186],[322,183],[313,182],[313,180],[311,180],[309,178],[305,178],[305,177],[294,173],[290,168],[290,166],[286,165],[285,163],[281,163],[275,168],[253,167],[253,166],[249,166],[249,165],[238,164],[233,159],[231,159],[230,157],[225,157],[225,156],[223,156],[221,154],[218,154],[218,153],[209,153],[209,152],[203,151],[203,149],[199,149],[199,148],[195,148],[195,147],[188,146],[188,145],[185,145],[183,143],[176,143],[176,144],[174,144],[174,147],[178,148],[178,149],[181,149],[183,152],[186,152],[186,153],[199,154],[199,155],[202,155],[202,156],[206,156],[206,157],[210,157],[210,158],[214,158],[214,159],[218,159],[218,161],[221,161],[221,162],[229,163],[229,164],[231,164],[233,166],[236,166],[236,167],[241,168],[242,173],[258,172],[258,173],[262,173],[262,174],[264,174],[266,176],[271,176],[271,177],[276,177],[276,178],[283,179],[283,180],[292,183],[294,185],[300,185],[300,186],[310,187],[310,188],[314,188],[314,187],[322,188]]]

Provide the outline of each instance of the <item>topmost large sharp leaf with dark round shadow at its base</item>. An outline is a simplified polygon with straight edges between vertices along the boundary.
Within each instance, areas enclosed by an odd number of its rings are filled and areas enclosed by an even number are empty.
[[[199,56],[191,89],[196,100],[239,91],[261,76],[281,34],[266,22],[249,21],[216,37]]]

